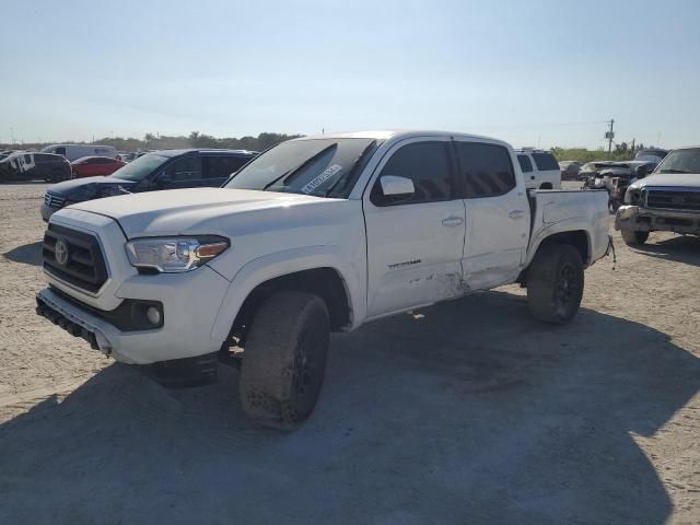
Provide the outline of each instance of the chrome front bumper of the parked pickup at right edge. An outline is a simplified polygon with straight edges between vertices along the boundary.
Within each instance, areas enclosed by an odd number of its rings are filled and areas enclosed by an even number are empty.
[[[615,229],[700,235],[700,212],[625,205],[617,210]]]

